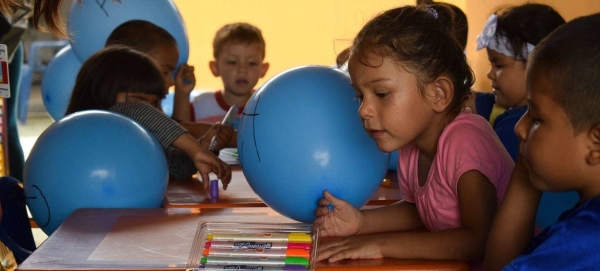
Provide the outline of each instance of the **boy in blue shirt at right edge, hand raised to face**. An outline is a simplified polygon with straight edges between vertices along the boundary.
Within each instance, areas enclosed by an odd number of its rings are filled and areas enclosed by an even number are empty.
[[[490,232],[486,266],[595,270],[600,258],[600,14],[574,19],[536,46],[527,66],[529,109],[515,132],[521,160]],[[542,191],[581,200],[529,243]],[[510,238],[507,238],[509,237]]]

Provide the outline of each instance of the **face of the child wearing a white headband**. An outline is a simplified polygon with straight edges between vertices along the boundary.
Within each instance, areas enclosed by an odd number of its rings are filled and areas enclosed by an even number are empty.
[[[527,63],[486,48],[491,68],[487,77],[492,81],[496,103],[514,108],[527,104],[525,77]]]

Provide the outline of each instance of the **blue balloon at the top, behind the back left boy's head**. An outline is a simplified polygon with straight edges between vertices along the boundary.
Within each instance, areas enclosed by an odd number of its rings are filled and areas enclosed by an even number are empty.
[[[104,48],[112,31],[124,22],[145,20],[169,32],[179,46],[179,64],[186,63],[189,43],[185,24],[171,0],[73,1],[67,28],[75,54],[84,62]]]

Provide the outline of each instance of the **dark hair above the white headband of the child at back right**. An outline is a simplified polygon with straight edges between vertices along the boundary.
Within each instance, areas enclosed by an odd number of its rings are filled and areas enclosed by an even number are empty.
[[[516,59],[526,59],[522,48],[537,45],[550,32],[565,23],[565,19],[551,6],[523,4],[494,12],[498,15],[496,35],[508,39]]]

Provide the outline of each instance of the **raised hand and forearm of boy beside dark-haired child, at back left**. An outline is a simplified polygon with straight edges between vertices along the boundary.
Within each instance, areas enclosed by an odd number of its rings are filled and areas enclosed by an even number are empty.
[[[196,86],[194,67],[182,64],[175,73],[175,96],[173,97],[173,118],[179,121],[190,120],[190,93]]]

